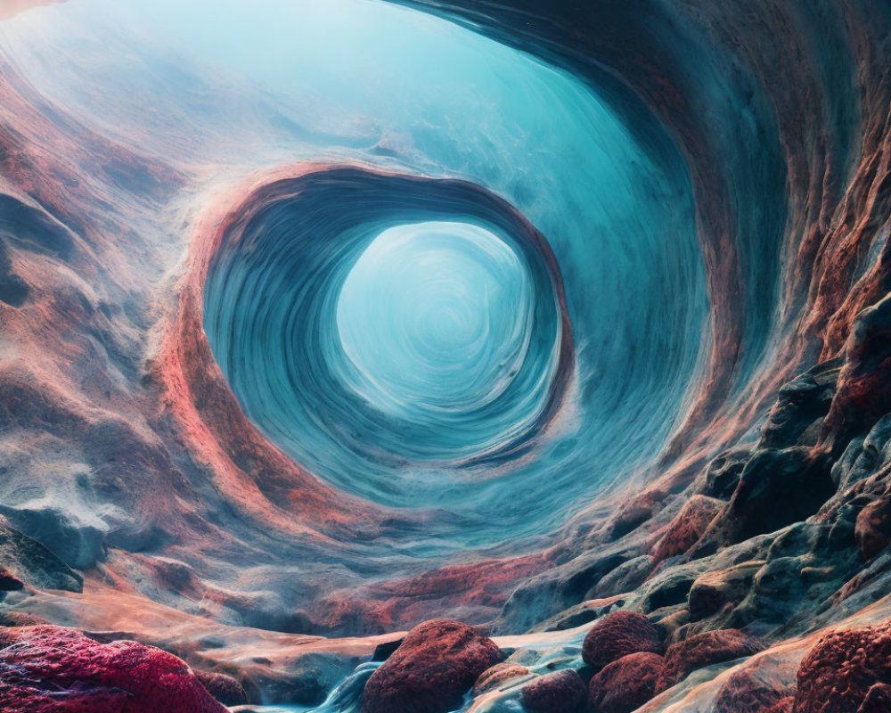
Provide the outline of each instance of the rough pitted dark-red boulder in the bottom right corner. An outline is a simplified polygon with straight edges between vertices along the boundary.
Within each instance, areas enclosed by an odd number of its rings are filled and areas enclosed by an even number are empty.
[[[832,632],[798,667],[795,713],[858,713],[879,705],[891,681],[891,619]],[[871,696],[871,701],[868,701]],[[862,706],[866,705],[866,709]],[[887,710],[881,709],[880,710]]]

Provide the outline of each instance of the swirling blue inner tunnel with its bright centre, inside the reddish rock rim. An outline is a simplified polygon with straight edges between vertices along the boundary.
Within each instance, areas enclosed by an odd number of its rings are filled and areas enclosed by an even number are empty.
[[[559,412],[560,269],[494,193],[331,166],[233,215],[208,262],[208,344],[249,419],[331,484],[415,504],[418,471],[510,463]]]

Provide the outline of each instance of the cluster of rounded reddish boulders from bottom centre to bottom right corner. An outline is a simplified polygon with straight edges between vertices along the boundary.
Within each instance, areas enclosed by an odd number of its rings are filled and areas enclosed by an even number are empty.
[[[778,681],[750,657],[765,644],[737,629],[666,646],[650,619],[616,611],[599,619],[582,665],[533,673],[478,630],[450,619],[415,627],[369,678],[362,713],[448,713],[465,696],[519,692],[527,713],[632,713],[685,678],[735,667],[717,690],[715,713],[878,713],[891,701],[891,619],[831,632],[807,653],[797,683]],[[505,660],[508,658],[508,660]],[[769,659],[765,659],[769,662]],[[751,664],[751,665],[750,665]]]

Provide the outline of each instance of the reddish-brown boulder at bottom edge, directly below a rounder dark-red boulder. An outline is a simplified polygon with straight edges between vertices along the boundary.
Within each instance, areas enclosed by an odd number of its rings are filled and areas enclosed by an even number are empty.
[[[658,653],[623,656],[595,674],[588,684],[591,713],[631,713],[650,701],[665,659]]]

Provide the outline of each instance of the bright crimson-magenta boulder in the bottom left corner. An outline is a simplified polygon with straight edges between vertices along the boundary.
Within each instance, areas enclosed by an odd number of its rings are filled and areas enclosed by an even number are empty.
[[[99,643],[83,632],[4,629],[4,713],[225,713],[173,654],[132,641]]]

